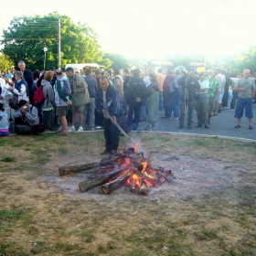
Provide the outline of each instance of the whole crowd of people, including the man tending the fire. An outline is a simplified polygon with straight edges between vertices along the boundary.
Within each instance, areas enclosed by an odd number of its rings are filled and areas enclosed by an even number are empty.
[[[197,127],[209,129],[211,117],[221,111],[236,108],[236,128],[245,109],[252,129],[252,99],[255,80],[249,69],[235,83],[224,70],[212,69],[197,74],[194,69],[158,69],[149,62],[140,69],[72,68],[48,71],[26,69],[19,61],[14,70],[7,70],[0,78],[0,135],[7,135],[10,121],[14,120],[18,134],[52,131],[68,135],[90,125],[90,130],[104,129],[105,153],[115,152],[120,132],[113,123],[120,123],[125,132],[137,130],[140,121],[146,121],[145,130],[157,130],[159,111],[163,119],[178,120],[179,129],[191,129],[193,112],[197,111]],[[16,111],[13,116],[5,112],[5,101]],[[237,101],[236,105],[235,102]],[[111,119],[107,117],[110,113]]]

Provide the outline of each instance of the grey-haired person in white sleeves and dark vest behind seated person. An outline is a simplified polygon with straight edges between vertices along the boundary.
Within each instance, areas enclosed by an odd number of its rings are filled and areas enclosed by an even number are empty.
[[[21,100],[29,101],[29,91],[27,87],[27,81],[23,78],[23,73],[21,71],[15,72],[15,83],[14,86],[9,86],[8,91],[12,91],[14,93],[14,97],[17,97],[17,103]],[[18,104],[16,107],[13,107],[16,110],[19,109]]]

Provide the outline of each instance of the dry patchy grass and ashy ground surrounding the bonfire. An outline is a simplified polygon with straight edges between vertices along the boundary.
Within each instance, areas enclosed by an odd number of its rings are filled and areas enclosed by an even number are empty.
[[[80,193],[86,175],[59,176],[61,165],[99,161],[102,133],[1,138],[0,255],[256,255],[256,145],[141,139],[155,166],[173,170],[147,197]]]

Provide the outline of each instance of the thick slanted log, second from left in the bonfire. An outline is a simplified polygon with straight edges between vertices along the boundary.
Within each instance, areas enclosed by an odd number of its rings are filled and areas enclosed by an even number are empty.
[[[112,172],[107,173],[105,175],[98,176],[98,177],[93,178],[93,179],[87,179],[85,181],[82,181],[79,184],[80,192],[85,192],[85,191],[90,190],[93,187],[101,186],[102,184],[104,184],[108,180],[112,179],[113,176],[116,176],[118,173],[120,173],[122,171],[123,170],[116,169],[116,170],[113,170]]]

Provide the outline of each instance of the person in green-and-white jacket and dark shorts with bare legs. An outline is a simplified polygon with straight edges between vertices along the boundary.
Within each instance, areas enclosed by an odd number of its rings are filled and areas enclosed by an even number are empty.
[[[59,135],[65,136],[68,135],[68,122],[66,115],[69,110],[69,105],[72,104],[72,101],[69,100],[69,96],[64,94],[64,87],[68,87],[70,90],[69,80],[65,78],[61,69],[55,71],[57,80],[54,85],[54,95],[56,103],[56,114],[59,116],[59,121],[61,123],[61,129],[57,131]]]

